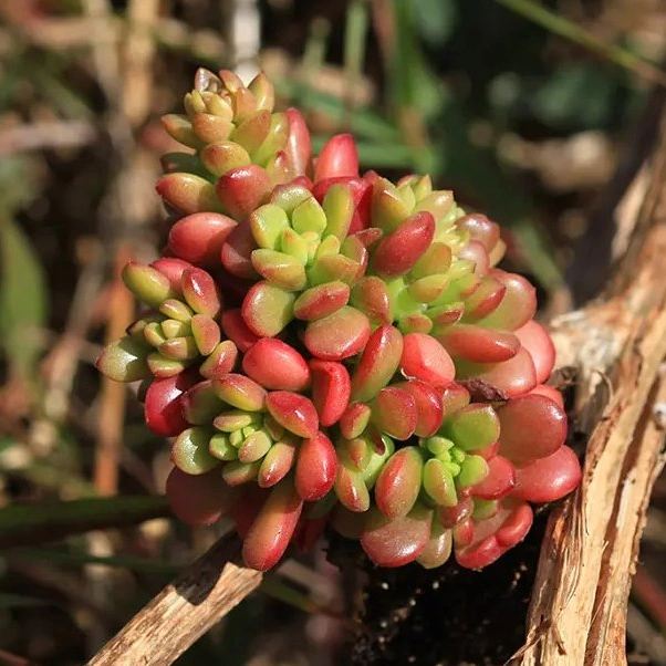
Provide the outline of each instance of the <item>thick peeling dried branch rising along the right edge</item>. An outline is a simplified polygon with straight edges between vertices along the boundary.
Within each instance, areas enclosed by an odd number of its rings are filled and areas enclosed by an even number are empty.
[[[666,128],[666,114],[662,127]],[[559,365],[580,376],[590,433],[581,488],[543,540],[521,666],[626,664],[627,601],[652,486],[664,464],[666,132],[644,205],[606,300],[553,324]]]

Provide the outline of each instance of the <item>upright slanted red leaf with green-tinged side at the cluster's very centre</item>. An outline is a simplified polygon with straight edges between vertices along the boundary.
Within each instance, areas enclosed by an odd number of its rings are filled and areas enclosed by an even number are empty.
[[[352,376],[352,399],[366,402],[386,386],[403,355],[403,335],[384,324],[370,336]]]

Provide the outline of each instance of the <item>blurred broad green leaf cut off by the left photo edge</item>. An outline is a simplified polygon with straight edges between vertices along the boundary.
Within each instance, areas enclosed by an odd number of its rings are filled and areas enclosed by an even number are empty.
[[[34,374],[39,355],[35,331],[46,320],[46,285],[34,249],[23,231],[0,217],[0,344],[23,378]]]

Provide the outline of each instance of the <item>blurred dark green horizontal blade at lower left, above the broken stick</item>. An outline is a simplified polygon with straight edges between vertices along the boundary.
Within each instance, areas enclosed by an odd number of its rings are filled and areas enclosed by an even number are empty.
[[[45,543],[170,514],[166,497],[96,497],[0,509],[0,548]]]

